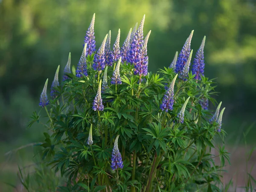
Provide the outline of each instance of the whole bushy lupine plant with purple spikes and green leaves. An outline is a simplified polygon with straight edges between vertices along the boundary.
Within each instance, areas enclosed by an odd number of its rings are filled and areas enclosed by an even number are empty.
[[[221,129],[225,108],[220,102],[215,113],[208,110],[209,102],[217,102],[212,98],[214,82],[204,76],[205,38],[192,71],[193,31],[169,67],[148,73],[151,31],[143,38],[145,15],[138,29],[130,29],[121,54],[119,30],[111,63],[111,32],[94,49],[94,20],[95,15],[80,60],[73,59],[78,65],[70,70],[69,56],[63,81],[53,84],[50,100],[48,79],[45,82],[39,106],[48,121],[43,123],[40,110],[29,122],[49,129],[39,146],[42,162],[65,178],[56,190],[220,191],[222,167],[229,157],[224,147],[218,155],[211,149],[215,139],[226,134]],[[215,164],[217,157],[220,165]]]

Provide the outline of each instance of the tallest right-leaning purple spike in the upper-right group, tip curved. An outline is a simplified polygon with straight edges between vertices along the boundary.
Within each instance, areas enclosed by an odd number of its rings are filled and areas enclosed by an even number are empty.
[[[187,38],[185,44],[183,45],[183,47],[180,51],[180,55],[176,62],[175,73],[181,73],[187,63],[187,60],[189,58],[190,44],[191,44],[191,39],[192,39],[193,33],[194,33],[194,30],[192,30],[192,32],[190,33],[189,37]],[[180,78],[180,76],[179,76],[179,78]]]

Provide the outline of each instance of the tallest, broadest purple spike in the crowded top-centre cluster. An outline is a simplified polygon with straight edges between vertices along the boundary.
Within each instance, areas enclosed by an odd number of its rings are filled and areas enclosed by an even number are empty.
[[[129,56],[129,62],[131,64],[136,64],[140,62],[141,59],[141,52],[143,47],[143,26],[145,21],[145,15],[143,16],[140,26],[137,30],[137,32],[134,35],[134,38],[131,43],[131,49],[130,49],[130,56]]]

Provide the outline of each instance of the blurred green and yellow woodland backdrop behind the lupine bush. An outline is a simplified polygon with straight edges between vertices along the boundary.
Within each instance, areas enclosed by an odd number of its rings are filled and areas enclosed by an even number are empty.
[[[59,64],[64,70],[69,52],[71,64],[78,63],[93,13],[97,48],[110,29],[113,44],[119,28],[122,46],[145,14],[144,34],[152,30],[148,55],[153,72],[169,66],[192,29],[194,51],[206,35],[205,76],[216,78],[220,93],[215,99],[226,107],[226,143],[242,145],[248,128],[247,144],[255,143],[255,0],[0,0],[1,181],[15,185],[17,163],[23,166],[32,158],[31,148],[5,153],[41,140],[43,127],[26,129],[29,116],[40,110],[45,79],[52,82]],[[9,190],[4,184],[1,189]]]

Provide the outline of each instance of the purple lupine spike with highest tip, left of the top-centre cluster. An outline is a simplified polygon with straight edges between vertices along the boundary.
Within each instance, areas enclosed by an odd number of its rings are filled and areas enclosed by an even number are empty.
[[[92,53],[96,51],[96,43],[95,43],[95,36],[94,36],[94,22],[95,22],[95,13],[93,14],[93,18],[86,32],[86,36],[84,37],[84,46],[85,44],[87,44],[86,56],[92,55]]]

